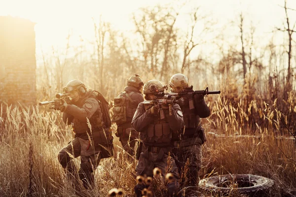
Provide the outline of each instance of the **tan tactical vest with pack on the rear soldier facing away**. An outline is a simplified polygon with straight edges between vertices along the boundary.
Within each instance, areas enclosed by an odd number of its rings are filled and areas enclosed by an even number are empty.
[[[112,108],[112,122],[118,125],[131,122],[137,110],[138,104],[131,99],[135,92],[121,92],[114,98],[114,106]]]

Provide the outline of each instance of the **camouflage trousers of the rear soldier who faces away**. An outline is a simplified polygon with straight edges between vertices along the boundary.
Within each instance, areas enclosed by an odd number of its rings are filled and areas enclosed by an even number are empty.
[[[135,131],[133,128],[127,128],[123,129],[119,134],[119,141],[121,142],[123,150],[133,156],[135,154],[137,139],[139,139],[139,132]]]

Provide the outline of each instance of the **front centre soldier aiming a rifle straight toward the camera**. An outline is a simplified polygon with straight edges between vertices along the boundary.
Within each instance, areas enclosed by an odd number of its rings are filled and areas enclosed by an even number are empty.
[[[150,80],[144,85],[144,94],[146,100],[155,98],[156,93],[164,92],[164,86],[160,81]],[[144,101],[145,102],[145,101]],[[153,176],[153,169],[158,167],[162,174],[166,174],[168,164],[168,172],[174,175],[173,181],[167,184],[168,195],[176,196],[179,191],[179,168],[173,158],[169,157],[169,152],[172,151],[171,137],[173,132],[176,132],[184,127],[183,114],[178,104],[171,106],[169,114],[169,106],[164,103],[162,105],[144,104],[141,102],[138,105],[137,111],[132,120],[132,126],[136,131],[140,132],[140,139],[146,147],[145,152],[142,152],[136,166],[138,175]],[[161,115],[162,114],[162,115]],[[142,196],[141,191],[143,185],[135,186],[137,197]]]

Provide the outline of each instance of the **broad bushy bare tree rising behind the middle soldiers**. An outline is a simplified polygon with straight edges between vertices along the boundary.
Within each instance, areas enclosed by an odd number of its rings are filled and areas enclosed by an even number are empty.
[[[176,53],[173,43],[176,43],[177,30],[175,22],[179,13],[172,7],[154,6],[141,8],[140,13],[134,13],[133,21],[136,32],[141,36],[144,66],[149,65],[149,71],[160,77],[166,77],[171,62],[171,54]],[[144,58],[144,59],[143,59]]]

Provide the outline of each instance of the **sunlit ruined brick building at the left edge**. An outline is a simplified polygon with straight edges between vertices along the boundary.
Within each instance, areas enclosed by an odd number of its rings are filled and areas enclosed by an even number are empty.
[[[0,16],[0,103],[36,105],[35,23]]]

